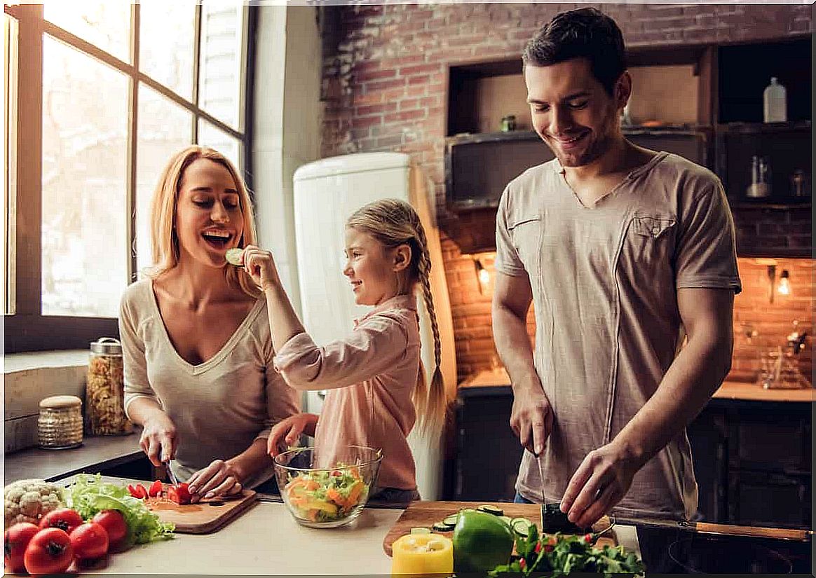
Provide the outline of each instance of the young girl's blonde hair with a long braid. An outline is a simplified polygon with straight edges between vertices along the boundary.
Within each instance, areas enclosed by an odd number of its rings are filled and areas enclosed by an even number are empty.
[[[433,358],[437,367],[433,371],[431,386],[425,380],[422,362],[419,362],[419,377],[414,390],[414,404],[420,417],[420,427],[427,433],[438,435],[445,423],[446,394],[442,381],[441,342],[437,313],[433,307],[431,294],[431,255],[428,252],[428,239],[425,229],[419,221],[414,208],[398,199],[381,199],[361,207],[348,218],[346,227],[365,232],[374,237],[388,249],[399,245],[410,247],[410,264],[406,267],[407,275],[401,278],[400,293],[412,293],[417,285],[422,289],[425,307],[431,318],[433,331]],[[418,318],[419,320],[419,318]]]

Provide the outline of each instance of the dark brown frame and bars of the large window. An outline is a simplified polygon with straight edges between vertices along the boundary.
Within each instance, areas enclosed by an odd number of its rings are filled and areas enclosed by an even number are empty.
[[[251,190],[252,98],[255,64],[256,8],[244,5],[242,51],[239,66],[242,81],[239,90],[238,129],[220,121],[199,107],[199,60],[202,43],[202,4],[196,3],[193,43],[193,95],[190,100],[154,81],[139,69],[140,6],[131,5],[131,62],[119,60],[73,33],[44,19],[42,4],[4,4],[4,11],[17,21],[18,62],[16,87],[16,139],[9,143],[11,180],[16,190],[9,191],[9,205],[16,210],[10,222],[8,302],[14,312],[3,315],[5,353],[87,349],[100,337],[118,338],[118,318],[42,315],[42,46],[45,34],[124,73],[128,78],[128,139],[126,170],[128,283],[136,279],[136,148],[139,110],[139,86],[144,82],[160,95],[193,114],[190,142],[197,142],[200,120],[206,120],[240,143],[244,179]],[[28,135],[28,136],[26,136]],[[33,138],[31,135],[36,135]],[[16,147],[16,152],[15,152]],[[16,165],[16,168],[14,167]],[[11,212],[11,211],[10,211]],[[11,223],[14,223],[13,226]],[[13,238],[11,238],[13,237]]]

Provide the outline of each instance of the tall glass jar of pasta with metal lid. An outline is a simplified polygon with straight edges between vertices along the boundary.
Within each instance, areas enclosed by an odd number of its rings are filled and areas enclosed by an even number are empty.
[[[85,389],[86,434],[130,434],[133,425],[125,417],[125,383],[122,343],[101,338],[91,343]]]

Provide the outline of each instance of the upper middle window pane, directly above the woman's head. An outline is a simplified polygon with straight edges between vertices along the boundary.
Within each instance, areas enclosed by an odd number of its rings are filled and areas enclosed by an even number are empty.
[[[141,72],[193,99],[193,2],[143,2],[139,19]]]

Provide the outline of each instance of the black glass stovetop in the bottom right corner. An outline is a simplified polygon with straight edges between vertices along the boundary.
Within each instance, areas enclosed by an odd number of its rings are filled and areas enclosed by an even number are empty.
[[[721,536],[678,528],[638,527],[646,576],[685,574],[807,574],[812,544],[747,536]]]

